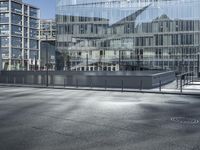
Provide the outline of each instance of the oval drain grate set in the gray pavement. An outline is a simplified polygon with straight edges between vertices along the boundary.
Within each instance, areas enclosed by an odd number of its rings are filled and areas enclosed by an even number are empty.
[[[181,124],[197,124],[199,120],[193,118],[186,118],[186,117],[173,117],[171,121],[181,123]]]

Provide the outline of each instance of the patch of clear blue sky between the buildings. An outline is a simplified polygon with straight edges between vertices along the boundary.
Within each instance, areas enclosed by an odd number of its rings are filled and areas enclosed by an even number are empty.
[[[40,8],[42,19],[55,18],[56,0],[23,0],[23,1],[25,3],[32,4]]]

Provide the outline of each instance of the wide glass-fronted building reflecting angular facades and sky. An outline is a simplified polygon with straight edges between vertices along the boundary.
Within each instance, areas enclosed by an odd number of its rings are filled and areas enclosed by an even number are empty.
[[[72,70],[197,71],[198,0],[57,0],[57,48]]]

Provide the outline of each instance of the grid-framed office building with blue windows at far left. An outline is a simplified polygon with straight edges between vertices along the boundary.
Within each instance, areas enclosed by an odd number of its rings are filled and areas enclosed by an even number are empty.
[[[39,9],[22,0],[0,0],[3,70],[39,68]]]

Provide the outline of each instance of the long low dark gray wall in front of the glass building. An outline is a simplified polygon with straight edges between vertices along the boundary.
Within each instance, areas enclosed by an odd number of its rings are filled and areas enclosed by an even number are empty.
[[[1,83],[46,85],[45,71],[2,71]],[[175,80],[174,72],[48,72],[49,85],[151,89]]]

